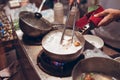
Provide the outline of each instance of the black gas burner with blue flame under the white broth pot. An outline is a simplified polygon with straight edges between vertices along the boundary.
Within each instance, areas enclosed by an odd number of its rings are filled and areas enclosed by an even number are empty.
[[[71,62],[59,62],[51,59],[43,52],[38,56],[37,61],[44,72],[57,77],[67,77],[71,75],[73,67],[81,59],[84,59],[84,55]]]

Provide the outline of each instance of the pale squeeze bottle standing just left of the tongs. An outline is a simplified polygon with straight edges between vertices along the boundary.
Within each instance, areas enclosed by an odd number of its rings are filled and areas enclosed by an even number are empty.
[[[63,21],[64,21],[63,4],[58,1],[54,5],[54,22],[58,24],[63,24]]]

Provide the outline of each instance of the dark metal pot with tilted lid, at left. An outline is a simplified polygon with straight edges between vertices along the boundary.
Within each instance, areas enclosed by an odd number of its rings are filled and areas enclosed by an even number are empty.
[[[22,11],[19,14],[19,25],[23,33],[30,37],[38,37],[46,34],[52,29],[52,25],[44,18],[37,18],[29,11]]]

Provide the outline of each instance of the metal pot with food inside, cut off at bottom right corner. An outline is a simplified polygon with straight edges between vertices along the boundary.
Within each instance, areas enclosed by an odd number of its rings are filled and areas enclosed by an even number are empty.
[[[72,80],[120,80],[120,63],[104,57],[83,59],[74,67]]]

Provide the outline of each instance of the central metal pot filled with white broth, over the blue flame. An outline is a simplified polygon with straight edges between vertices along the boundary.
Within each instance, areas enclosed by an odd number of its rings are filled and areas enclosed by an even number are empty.
[[[42,47],[44,48],[46,54],[54,58],[62,57],[61,60],[69,56],[79,57],[81,49],[84,46],[85,40],[82,35],[81,40],[78,40],[76,36],[73,37],[72,42],[72,30],[66,30],[62,44],[60,43],[62,37],[62,30],[54,30],[49,32],[42,40]],[[77,54],[76,54],[77,53]],[[67,57],[66,57],[67,56]],[[69,58],[68,57],[68,58]]]

